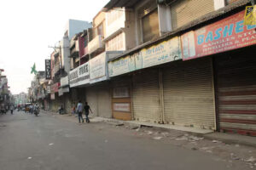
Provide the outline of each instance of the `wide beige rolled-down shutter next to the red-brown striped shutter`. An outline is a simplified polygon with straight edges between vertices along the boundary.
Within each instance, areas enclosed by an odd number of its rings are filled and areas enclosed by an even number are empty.
[[[163,69],[165,121],[215,129],[211,59],[177,61]]]

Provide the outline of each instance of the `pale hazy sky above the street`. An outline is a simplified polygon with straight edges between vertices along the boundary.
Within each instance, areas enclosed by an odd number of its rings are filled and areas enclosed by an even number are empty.
[[[0,69],[11,93],[27,93],[34,63],[37,71],[44,71],[44,59],[53,51],[49,46],[61,40],[68,19],[91,22],[108,1],[0,1]]]

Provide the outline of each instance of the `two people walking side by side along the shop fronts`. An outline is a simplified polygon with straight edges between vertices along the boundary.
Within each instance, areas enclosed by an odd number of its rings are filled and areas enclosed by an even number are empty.
[[[90,122],[89,120],[89,111],[92,114],[92,111],[90,110],[90,105],[88,105],[87,102],[85,102],[85,105],[82,104],[81,100],[79,100],[79,103],[77,106],[73,107],[73,114],[78,113],[79,115],[79,123],[84,122],[83,118],[83,112],[85,114],[85,121]]]

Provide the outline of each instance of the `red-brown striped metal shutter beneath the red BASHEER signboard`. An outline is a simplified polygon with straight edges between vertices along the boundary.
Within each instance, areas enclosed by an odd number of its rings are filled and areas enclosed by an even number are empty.
[[[222,54],[216,66],[220,130],[256,136],[255,47]]]

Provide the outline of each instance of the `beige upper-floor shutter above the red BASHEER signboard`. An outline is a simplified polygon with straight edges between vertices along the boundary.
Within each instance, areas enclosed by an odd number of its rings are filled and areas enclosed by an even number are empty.
[[[213,0],[182,0],[171,4],[172,29],[214,11]]]

